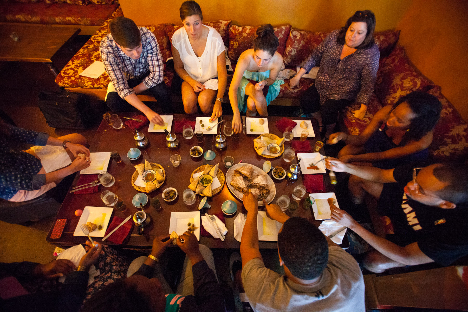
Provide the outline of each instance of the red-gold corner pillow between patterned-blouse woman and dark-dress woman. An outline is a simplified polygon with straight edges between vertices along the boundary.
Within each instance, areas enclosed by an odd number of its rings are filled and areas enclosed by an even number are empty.
[[[380,58],[375,94],[382,105],[394,104],[403,95],[434,87],[427,78],[408,64],[402,46],[397,46],[387,58]]]

